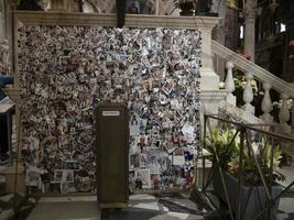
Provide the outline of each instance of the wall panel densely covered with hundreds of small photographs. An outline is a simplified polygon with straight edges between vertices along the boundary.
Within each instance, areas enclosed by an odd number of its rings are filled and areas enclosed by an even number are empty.
[[[31,189],[95,193],[94,109],[101,101],[130,109],[131,190],[190,184],[199,139],[199,31],[23,25],[19,32]]]

